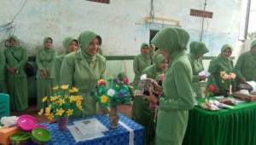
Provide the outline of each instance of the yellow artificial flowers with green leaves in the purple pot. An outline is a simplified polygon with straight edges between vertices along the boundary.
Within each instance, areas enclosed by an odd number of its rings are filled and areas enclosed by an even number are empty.
[[[83,97],[77,95],[78,88],[61,85],[55,86],[53,90],[55,91],[53,96],[44,96],[42,99],[45,107],[38,112],[38,115],[46,115],[51,122],[55,118],[73,115],[74,110],[83,111]]]

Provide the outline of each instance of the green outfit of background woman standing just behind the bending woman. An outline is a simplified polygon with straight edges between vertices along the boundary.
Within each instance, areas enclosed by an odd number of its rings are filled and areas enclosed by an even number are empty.
[[[145,46],[148,46],[148,44],[143,43],[141,45],[141,50]],[[133,84],[137,85],[137,83],[140,80],[140,77],[141,77],[141,75],[143,73],[143,69],[145,69],[146,67],[150,66],[151,63],[152,63],[152,60],[151,60],[149,54],[147,54],[147,55],[140,54],[140,55],[136,55],[134,57],[134,60],[133,60],[133,71],[135,73],[135,76],[134,76]]]

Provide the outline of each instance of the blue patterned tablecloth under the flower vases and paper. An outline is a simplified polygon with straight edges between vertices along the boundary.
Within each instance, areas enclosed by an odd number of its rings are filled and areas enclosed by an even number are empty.
[[[50,145],[69,145],[69,144],[86,144],[86,145],[129,145],[129,137],[130,131],[125,129],[123,125],[118,126],[117,129],[112,130],[109,128],[108,115],[95,115],[86,118],[80,119],[70,119],[68,125],[73,125],[73,121],[78,121],[82,119],[98,119],[102,125],[105,125],[109,131],[103,132],[104,136],[83,141],[83,142],[75,142],[72,134],[68,131],[59,131],[58,125],[44,123],[43,125],[47,125],[48,130],[51,133],[51,140],[48,142]],[[133,142],[134,145],[143,145],[143,132],[144,128],[142,125],[138,125],[133,120],[129,119],[122,113],[119,113],[119,120],[123,122],[125,125],[129,126],[134,131]],[[131,142],[130,142],[131,143]]]

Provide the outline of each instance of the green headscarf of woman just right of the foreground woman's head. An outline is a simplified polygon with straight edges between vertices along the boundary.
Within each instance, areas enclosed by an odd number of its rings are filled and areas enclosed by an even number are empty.
[[[204,55],[209,52],[207,49],[207,45],[200,42],[200,41],[193,41],[189,44],[190,47],[190,54],[192,55]]]

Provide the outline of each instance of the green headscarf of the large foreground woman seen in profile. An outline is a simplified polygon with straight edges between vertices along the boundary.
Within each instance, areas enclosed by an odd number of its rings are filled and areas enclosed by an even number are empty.
[[[177,52],[186,49],[189,43],[189,33],[182,28],[165,27],[151,41],[155,47],[166,50],[172,58]]]

